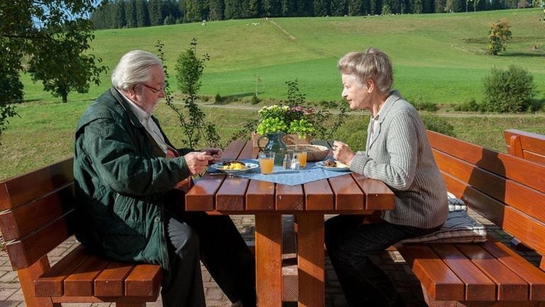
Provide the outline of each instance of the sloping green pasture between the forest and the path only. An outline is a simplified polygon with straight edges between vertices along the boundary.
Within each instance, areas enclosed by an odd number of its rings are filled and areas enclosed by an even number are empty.
[[[208,53],[202,78],[204,95],[250,97],[259,76],[260,97],[282,99],[287,80],[299,80],[307,99],[338,100],[341,82],[336,61],[352,50],[375,46],[395,66],[395,87],[412,100],[456,104],[483,97],[481,80],[490,68],[516,64],[532,72],[545,92],[545,34],[539,9],[460,14],[419,14],[371,17],[271,18],[190,23],[150,28],[97,31],[94,54],[114,68],[121,55],[141,48],[156,53],[165,44],[166,65],[176,87],[175,60],[198,40],[198,53]],[[500,56],[485,55],[490,23],[507,19],[512,41]],[[538,50],[532,50],[533,46]],[[109,86],[69,99],[94,99]],[[26,99],[58,101],[25,77]]]

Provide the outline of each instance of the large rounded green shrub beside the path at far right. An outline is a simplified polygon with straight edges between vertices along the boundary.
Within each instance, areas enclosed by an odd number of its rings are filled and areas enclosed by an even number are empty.
[[[492,68],[483,79],[483,109],[490,112],[533,111],[536,85],[527,70],[511,65],[507,70]]]

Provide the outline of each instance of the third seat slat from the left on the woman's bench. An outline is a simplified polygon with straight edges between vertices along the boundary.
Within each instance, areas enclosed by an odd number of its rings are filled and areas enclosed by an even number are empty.
[[[528,284],[477,244],[455,244],[471,262],[497,284],[498,301],[527,301]]]

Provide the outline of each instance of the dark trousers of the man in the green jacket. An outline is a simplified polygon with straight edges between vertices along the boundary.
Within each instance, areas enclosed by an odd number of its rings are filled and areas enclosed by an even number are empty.
[[[227,215],[166,210],[170,271],[165,307],[204,307],[201,261],[231,302],[255,307],[255,259]]]

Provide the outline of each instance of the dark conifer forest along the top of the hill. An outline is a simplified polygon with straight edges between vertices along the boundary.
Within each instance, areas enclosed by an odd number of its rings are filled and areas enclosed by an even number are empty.
[[[96,29],[141,28],[243,18],[431,14],[515,9],[530,0],[112,0],[94,11]]]

